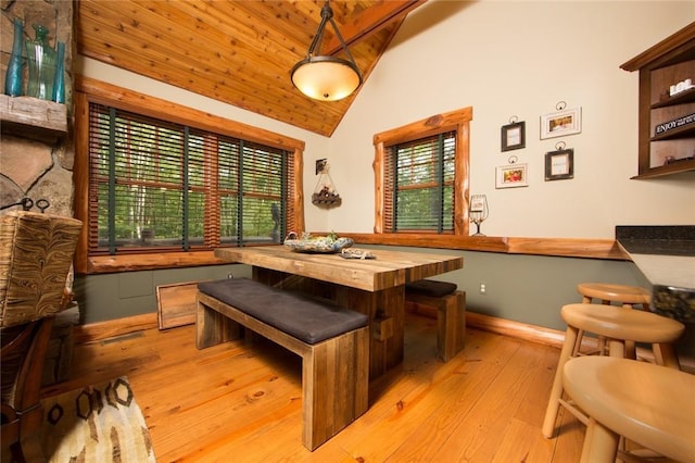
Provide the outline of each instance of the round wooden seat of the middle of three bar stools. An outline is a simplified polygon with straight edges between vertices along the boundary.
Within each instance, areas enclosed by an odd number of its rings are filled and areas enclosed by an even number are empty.
[[[673,342],[685,330],[685,326],[675,320],[610,305],[597,311],[594,304],[567,304],[560,309],[560,315],[578,329],[636,342]]]

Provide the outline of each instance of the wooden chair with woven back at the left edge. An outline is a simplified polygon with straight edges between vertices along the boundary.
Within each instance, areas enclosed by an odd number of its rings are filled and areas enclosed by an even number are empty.
[[[0,216],[2,456],[41,461],[41,374],[81,222],[33,212]]]

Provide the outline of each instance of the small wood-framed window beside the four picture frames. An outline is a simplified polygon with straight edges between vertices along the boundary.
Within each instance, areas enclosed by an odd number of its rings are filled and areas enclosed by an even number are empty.
[[[468,234],[465,109],[375,136],[376,233]]]

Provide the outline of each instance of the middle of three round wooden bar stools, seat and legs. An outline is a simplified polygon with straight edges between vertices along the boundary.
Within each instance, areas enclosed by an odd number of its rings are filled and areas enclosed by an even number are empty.
[[[652,312],[611,305],[606,305],[601,311],[595,309],[595,304],[567,304],[560,310],[560,315],[567,323],[567,331],[543,420],[543,435],[548,439],[555,434],[559,405],[569,410],[582,423],[589,423],[581,410],[563,398],[563,367],[572,358],[577,343],[581,342],[578,337],[580,330],[595,333],[608,339],[610,356],[624,358],[626,341],[644,342],[652,345],[657,364],[680,370],[673,343],[685,330],[682,323]]]

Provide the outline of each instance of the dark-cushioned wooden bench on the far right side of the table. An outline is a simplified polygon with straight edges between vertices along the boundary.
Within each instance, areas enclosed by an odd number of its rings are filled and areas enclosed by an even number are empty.
[[[466,292],[456,285],[421,279],[405,285],[405,306],[437,318],[437,354],[448,362],[464,349],[466,340]]]

